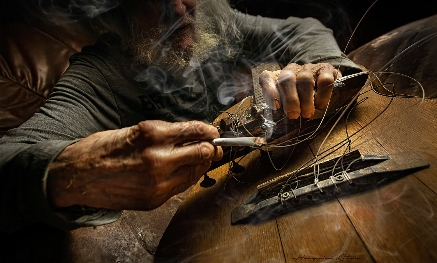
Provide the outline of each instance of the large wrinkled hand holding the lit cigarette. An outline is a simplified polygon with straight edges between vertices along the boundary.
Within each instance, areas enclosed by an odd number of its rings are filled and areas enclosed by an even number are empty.
[[[66,147],[49,168],[48,196],[55,207],[75,204],[114,210],[150,210],[183,192],[222,158],[218,138],[199,122],[148,120],[94,133]]]

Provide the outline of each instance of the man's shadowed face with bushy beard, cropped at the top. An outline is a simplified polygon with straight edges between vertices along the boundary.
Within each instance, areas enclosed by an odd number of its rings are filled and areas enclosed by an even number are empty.
[[[145,1],[134,11],[139,28],[132,36],[135,59],[147,66],[184,69],[218,43],[197,0]]]

